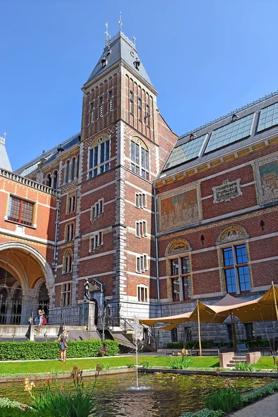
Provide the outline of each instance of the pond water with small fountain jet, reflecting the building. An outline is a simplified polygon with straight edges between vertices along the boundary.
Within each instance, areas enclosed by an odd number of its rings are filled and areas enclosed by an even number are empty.
[[[84,378],[85,386],[95,378]],[[197,411],[204,407],[206,395],[229,384],[240,391],[250,391],[272,382],[270,378],[227,378],[211,375],[172,375],[147,373],[139,375],[139,385],[148,390],[134,391],[136,374],[99,376],[95,389],[97,417],[180,417],[186,411]],[[36,383],[37,384],[37,383]],[[41,387],[43,382],[38,382]],[[58,385],[70,384],[70,379],[58,379]],[[24,383],[0,384],[0,396],[10,400],[30,403]]]

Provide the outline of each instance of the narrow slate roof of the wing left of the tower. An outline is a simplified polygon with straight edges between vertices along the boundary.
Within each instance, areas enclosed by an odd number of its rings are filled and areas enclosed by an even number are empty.
[[[56,156],[58,155],[58,147],[63,147],[63,149],[66,150],[76,145],[76,143],[78,143],[80,140],[80,135],[80,132],[76,133],[74,136],[67,138],[66,140],[64,140],[64,142],[61,142],[59,145],[56,145],[55,147],[49,149],[49,151],[44,152],[44,158],[46,158],[45,163],[47,164],[52,161],[55,161]],[[42,154],[40,156],[37,156],[37,158],[33,159],[32,161],[22,165],[22,167],[17,168],[17,170],[14,171],[15,174],[19,174],[22,177],[25,177],[26,175],[35,171],[38,167],[38,164],[40,163],[41,158]]]

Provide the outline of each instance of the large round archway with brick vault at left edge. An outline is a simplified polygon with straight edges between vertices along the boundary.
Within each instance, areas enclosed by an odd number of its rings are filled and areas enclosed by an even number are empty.
[[[42,291],[44,300],[40,300]],[[1,293],[6,297],[1,324],[28,324],[28,318],[38,313],[39,303],[54,293],[54,275],[44,256],[25,243],[1,244],[0,297]]]

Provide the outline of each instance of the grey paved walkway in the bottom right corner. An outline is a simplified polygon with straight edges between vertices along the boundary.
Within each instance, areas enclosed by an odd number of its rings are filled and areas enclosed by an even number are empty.
[[[278,393],[268,395],[254,402],[254,404],[247,405],[244,409],[238,410],[233,414],[229,414],[229,417],[278,417]]]

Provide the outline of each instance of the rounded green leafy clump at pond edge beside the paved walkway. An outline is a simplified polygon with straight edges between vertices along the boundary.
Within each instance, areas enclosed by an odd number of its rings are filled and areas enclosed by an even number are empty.
[[[238,389],[229,386],[228,388],[222,388],[209,394],[205,398],[204,404],[210,410],[227,412],[243,404],[243,398]]]

